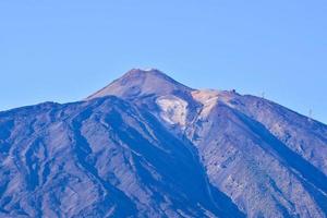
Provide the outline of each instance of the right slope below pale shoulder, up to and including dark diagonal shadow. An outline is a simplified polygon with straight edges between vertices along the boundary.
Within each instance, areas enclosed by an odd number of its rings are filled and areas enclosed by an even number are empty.
[[[219,102],[190,130],[211,183],[249,217],[326,216],[326,175],[261,123]]]

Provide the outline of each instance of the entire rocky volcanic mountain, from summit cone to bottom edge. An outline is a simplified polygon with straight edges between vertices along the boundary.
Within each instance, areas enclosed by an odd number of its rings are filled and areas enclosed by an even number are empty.
[[[0,217],[327,217],[327,126],[135,69],[0,112]]]

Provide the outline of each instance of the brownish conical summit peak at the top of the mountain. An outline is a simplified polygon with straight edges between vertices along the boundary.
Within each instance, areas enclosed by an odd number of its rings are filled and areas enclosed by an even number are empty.
[[[122,77],[90,95],[87,99],[114,95],[123,98],[135,96],[164,96],[172,93],[191,92],[192,88],[172,80],[157,69],[132,69]]]

